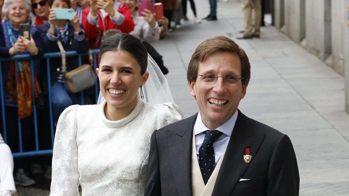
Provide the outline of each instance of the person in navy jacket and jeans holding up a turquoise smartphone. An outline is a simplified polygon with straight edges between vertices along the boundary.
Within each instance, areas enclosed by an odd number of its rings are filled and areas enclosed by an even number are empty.
[[[70,20],[56,19],[58,16],[55,14],[55,9],[69,9],[70,0],[49,0],[49,5],[51,7],[49,21],[38,27],[44,38],[46,52],[60,52],[57,44],[60,40],[65,51],[76,51],[79,54],[86,53],[89,46],[76,13],[74,13],[73,19]],[[68,17],[68,14],[62,14],[62,16]],[[66,62],[67,71],[73,70],[79,65],[77,56],[67,57]],[[57,123],[59,115],[65,108],[80,102],[74,93],[68,93],[64,87],[61,58],[50,58],[50,66],[53,117],[55,123]]]

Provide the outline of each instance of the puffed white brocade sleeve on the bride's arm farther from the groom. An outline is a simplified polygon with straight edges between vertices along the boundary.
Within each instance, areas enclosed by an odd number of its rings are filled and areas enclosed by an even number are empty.
[[[53,145],[50,196],[80,195],[76,144],[77,106],[69,106],[59,116]]]

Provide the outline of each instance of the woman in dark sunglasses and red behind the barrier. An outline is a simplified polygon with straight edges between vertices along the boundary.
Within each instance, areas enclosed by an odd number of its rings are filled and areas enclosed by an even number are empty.
[[[49,20],[50,6],[47,0],[31,0],[31,25],[39,26]]]

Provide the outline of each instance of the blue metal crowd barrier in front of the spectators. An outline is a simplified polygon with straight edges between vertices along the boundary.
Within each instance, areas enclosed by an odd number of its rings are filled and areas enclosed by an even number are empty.
[[[94,70],[97,68],[97,62],[96,62],[96,55],[99,54],[99,49],[92,50],[92,55],[94,58]],[[79,58],[79,66],[82,65],[82,56],[86,56],[86,54],[77,54],[76,51],[67,51],[66,56],[78,56]],[[37,122],[37,109],[35,100],[33,101],[33,118],[34,118],[34,134],[35,134],[35,151],[23,151],[23,145],[22,145],[22,127],[21,127],[21,119],[18,118],[18,138],[19,138],[19,152],[14,152],[14,157],[28,157],[28,156],[39,156],[39,155],[45,155],[45,154],[52,154],[53,152],[53,141],[54,141],[54,125],[53,125],[53,107],[52,107],[52,97],[51,97],[51,75],[50,75],[50,58],[57,58],[61,57],[60,52],[52,52],[52,53],[45,53],[43,55],[43,59],[46,59],[46,66],[47,66],[47,86],[48,86],[48,94],[49,94],[49,115],[50,115],[50,131],[51,131],[51,144],[52,149],[46,149],[46,150],[40,150],[39,149],[39,135],[38,135],[38,122]],[[1,114],[2,114],[2,129],[3,129],[3,139],[5,143],[7,143],[7,131],[6,131],[6,114],[5,114],[5,100],[4,100],[4,89],[3,89],[3,81],[2,81],[2,62],[3,61],[15,61],[15,65],[17,65],[18,60],[29,60],[30,66],[31,66],[31,84],[32,84],[32,96],[35,98],[35,85],[34,85],[34,63],[31,59],[31,56],[29,54],[18,54],[14,55],[11,58],[0,58],[0,103],[1,103]],[[44,66],[44,65],[42,65]],[[96,73],[95,73],[96,74]],[[15,66],[15,76],[16,76],[16,84],[17,84],[17,66]],[[96,84],[95,84],[95,100],[97,103],[98,95],[99,95],[99,86],[98,86],[98,78],[96,75]],[[84,105],[84,94],[81,92],[81,105]]]

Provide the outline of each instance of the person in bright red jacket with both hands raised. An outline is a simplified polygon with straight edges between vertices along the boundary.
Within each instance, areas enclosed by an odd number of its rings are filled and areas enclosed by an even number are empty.
[[[110,29],[129,33],[134,29],[131,10],[114,0],[89,0],[90,7],[82,11],[82,25],[90,48],[99,48],[101,38]]]

